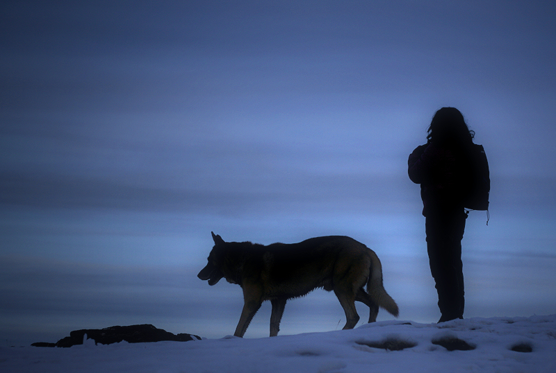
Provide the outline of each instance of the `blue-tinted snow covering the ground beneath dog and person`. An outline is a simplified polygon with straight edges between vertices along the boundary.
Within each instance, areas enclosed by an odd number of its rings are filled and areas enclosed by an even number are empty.
[[[436,344],[439,340],[473,349],[449,351]],[[516,345],[532,351],[512,351]],[[113,345],[86,340],[70,348],[0,347],[0,371],[554,373],[556,315],[471,318],[443,324],[393,320],[347,331],[273,338],[227,336]]]

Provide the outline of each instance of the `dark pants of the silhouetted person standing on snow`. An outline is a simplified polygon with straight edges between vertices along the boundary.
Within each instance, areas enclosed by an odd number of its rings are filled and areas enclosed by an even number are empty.
[[[425,232],[430,272],[439,294],[439,322],[464,318],[464,272],[461,238],[464,238],[464,209],[427,214]]]

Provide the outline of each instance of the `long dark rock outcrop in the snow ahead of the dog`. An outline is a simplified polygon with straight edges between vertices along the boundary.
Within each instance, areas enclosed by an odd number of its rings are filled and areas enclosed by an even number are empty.
[[[125,340],[129,343],[139,342],[159,342],[161,340],[174,340],[178,342],[186,342],[188,340],[200,340],[198,336],[192,334],[179,333],[175,335],[163,329],[156,329],[151,324],[130,325],[129,327],[109,327],[104,329],[81,329],[70,332],[69,337],[62,338],[58,342],[33,343],[36,347],[72,347],[74,345],[83,345],[83,337],[87,335],[87,339],[95,340],[96,343],[102,345],[110,345],[111,343],[122,342]]]

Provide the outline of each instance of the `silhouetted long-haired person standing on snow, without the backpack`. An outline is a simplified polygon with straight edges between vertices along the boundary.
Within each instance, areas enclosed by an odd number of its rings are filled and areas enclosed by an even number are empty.
[[[475,132],[454,107],[434,114],[427,130],[427,144],[409,155],[409,178],[420,184],[427,235],[430,271],[436,282],[441,318],[445,322],[464,318],[464,274],[461,238],[467,214],[469,154]]]

